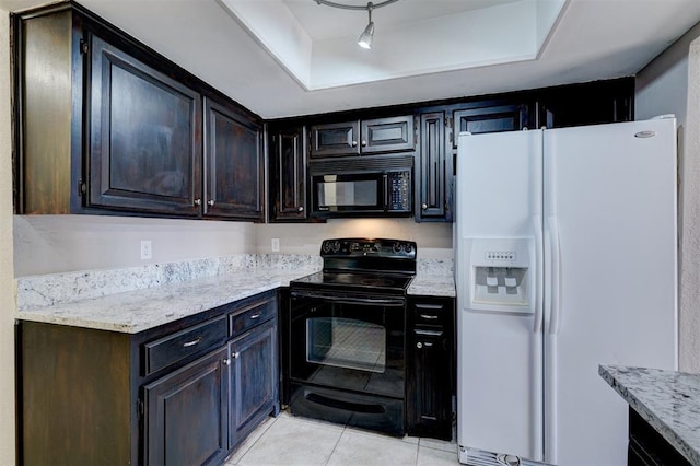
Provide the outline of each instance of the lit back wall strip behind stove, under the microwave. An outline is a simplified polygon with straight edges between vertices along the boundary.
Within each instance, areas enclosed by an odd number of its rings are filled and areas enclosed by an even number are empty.
[[[452,259],[452,223],[416,223],[409,219],[337,219],[328,223],[256,224],[257,254],[318,254],[332,237],[386,237],[415,241],[420,259]],[[280,251],[272,252],[272,238]]]

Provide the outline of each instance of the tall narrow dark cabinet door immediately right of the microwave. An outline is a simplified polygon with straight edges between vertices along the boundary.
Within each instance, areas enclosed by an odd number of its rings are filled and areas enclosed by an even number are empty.
[[[453,162],[447,155],[444,112],[421,114],[416,221],[452,221]]]

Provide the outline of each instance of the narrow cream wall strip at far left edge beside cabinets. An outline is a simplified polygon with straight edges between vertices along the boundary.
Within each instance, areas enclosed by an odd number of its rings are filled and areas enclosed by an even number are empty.
[[[0,10],[0,464],[15,463],[10,22]]]

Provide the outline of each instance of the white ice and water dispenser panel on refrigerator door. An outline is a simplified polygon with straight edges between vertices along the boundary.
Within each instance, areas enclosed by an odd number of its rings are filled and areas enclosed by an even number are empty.
[[[528,238],[471,240],[468,306],[474,310],[533,311],[534,243]]]

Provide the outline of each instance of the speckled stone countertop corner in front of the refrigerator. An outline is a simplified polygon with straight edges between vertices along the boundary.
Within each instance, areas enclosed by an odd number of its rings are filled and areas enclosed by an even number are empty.
[[[700,374],[600,365],[598,373],[691,464],[700,465]]]

